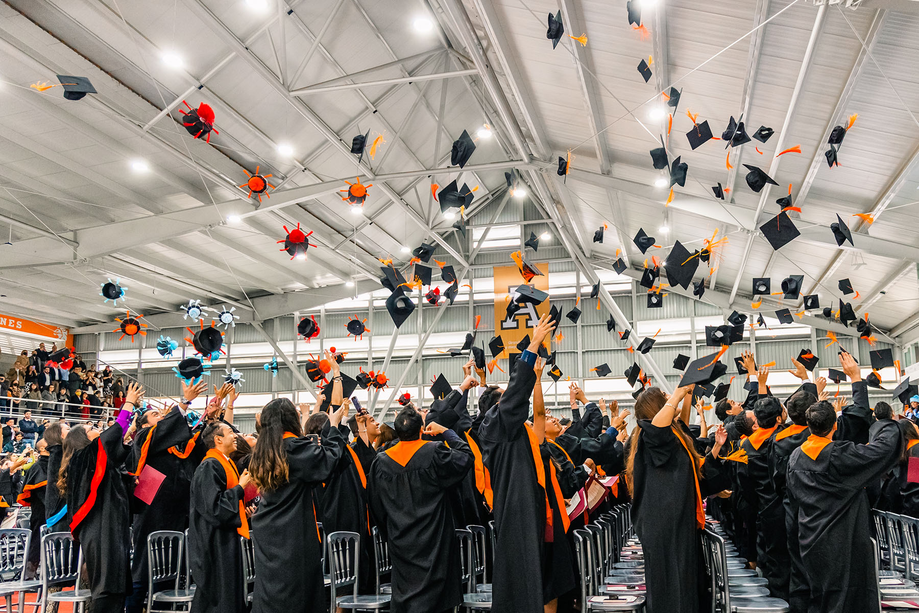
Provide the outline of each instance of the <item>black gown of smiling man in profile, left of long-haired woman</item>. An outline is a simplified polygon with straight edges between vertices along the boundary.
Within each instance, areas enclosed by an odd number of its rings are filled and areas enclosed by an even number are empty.
[[[230,460],[228,463],[232,464]],[[243,487],[227,489],[220,460],[207,458],[191,481],[188,515],[188,563],[198,588],[191,610],[196,613],[243,613],[243,522],[239,503]]]

